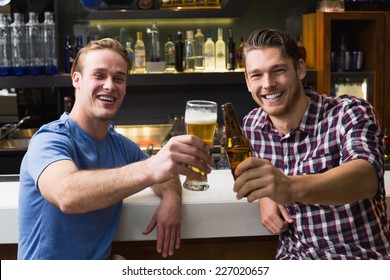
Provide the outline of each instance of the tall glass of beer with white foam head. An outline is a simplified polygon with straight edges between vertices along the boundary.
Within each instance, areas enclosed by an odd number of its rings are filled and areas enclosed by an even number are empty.
[[[213,143],[215,127],[217,125],[217,103],[206,100],[187,101],[184,122],[188,134],[198,136],[210,147]],[[190,166],[196,172],[199,169]],[[183,187],[193,191],[205,191],[209,188],[207,179],[205,181],[195,181],[187,177]]]

